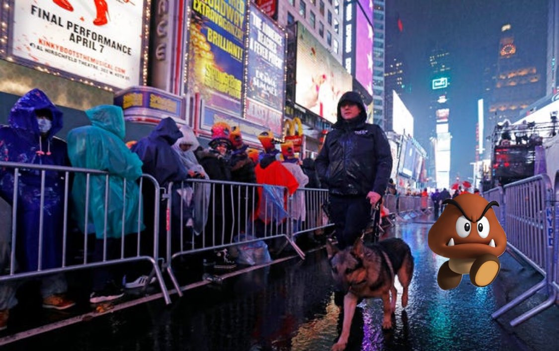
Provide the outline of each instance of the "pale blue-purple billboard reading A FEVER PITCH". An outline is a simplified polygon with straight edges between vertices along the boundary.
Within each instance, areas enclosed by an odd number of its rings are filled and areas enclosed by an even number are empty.
[[[250,7],[245,118],[282,135],[285,102],[285,32]]]

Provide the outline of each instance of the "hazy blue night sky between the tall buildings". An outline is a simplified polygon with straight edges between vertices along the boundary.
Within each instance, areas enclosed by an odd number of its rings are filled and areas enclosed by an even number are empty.
[[[517,52],[532,53],[529,60],[543,70],[545,79],[547,0],[387,0],[385,4],[386,56],[392,53],[404,60],[411,90],[402,100],[415,118],[414,136],[424,147],[429,137],[424,126],[434,125],[429,113],[428,56],[435,47],[451,54],[451,184],[457,174],[461,179],[472,177],[482,72],[496,63],[501,26],[511,24]],[[398,17],[402,32],[397,30]]]

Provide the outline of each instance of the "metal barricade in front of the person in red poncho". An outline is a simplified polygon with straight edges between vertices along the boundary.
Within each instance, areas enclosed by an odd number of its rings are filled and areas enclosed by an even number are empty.
[[[190,202],[189,205],[188,197],[194,197],[198,191],[208,187],[209,199],[203,196],[198,201]],[[264,213],[260,213],[259,218],[266,225],[257,228],[252,217],[259,201],[264,197],[264,192],[267,191],[265,187],[279,193],[285,212],[280,213],[277,206],[276,208],[265,206]],[[182,197],[181,200],[173,200],[177,195]],[[291,244],[301,259],[305,258],[305,253],[293,241],[292,223],[289,217],[292,198],[288,196],[286,187],[188,179],[180,184],[170,183],[165,197],[167,197],[166,268],[179,295],[182,295],[183,289],[173,273],[172,262],[174,258],[181,255],[224,249],[259,240],[285,238],[285,245]],[[180,206],[178,211],[174,208],[176,206]],[[207,223],[200,233],[189,234],[192,233],[192,229],[188,228],[188,216],[184,215],[185,211],[191,211],[189,206],[207,208],[207,211],[203,211],[206,214],[203,222]],[[281,217],[280,221],[276,221],[278,217]]]

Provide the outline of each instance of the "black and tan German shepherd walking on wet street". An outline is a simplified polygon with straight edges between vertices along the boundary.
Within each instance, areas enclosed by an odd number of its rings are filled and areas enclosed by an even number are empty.
[[[375,244],[363,243],[358,238],[353,246],[339,250],[330,242],[326,251],[335,284],[345,293],[342,334],[332,350],[344,350],[349,328],[359,298],[381,297],[383,302],[382,329],[392,328],[391,315],[396,310],[395,276],[404,292],[402,307],[408,305],[408,287],[414,272],[414,258],[410,246],[402,239],[390,238]],[[390,300],[389,293],[392,293]]]

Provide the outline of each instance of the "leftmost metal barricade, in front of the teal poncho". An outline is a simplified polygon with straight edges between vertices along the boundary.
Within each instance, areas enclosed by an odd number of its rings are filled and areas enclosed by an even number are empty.
[[[169,292],[167,287],[165,287],[165,283],[163,281],[162,273],[158,267],[157,259],[158,259],[158,221],[157,218],[159,216],[159,185],[155,178],[144,174],[139,179],[139,198],[138,201],[141,205],[142,196],[141,196],[141,189],[144,186],[145,182],[153,183],[155,188],[155,225],[153,231],[153,243],[144,243],[141,241],[141,223],[143,221],[142,218],[142,211],[139,211],[138,222],[137,225],[137,232],[135,233],[124,233],[125,226],[124,220],[126,215],[126,206],[125,203],[123,204],[123,211],[122,211],[122,232],[120,240],[120,254],[119,257],[109,257],[109,253],[107,251],[107,214],[110,208],[108,208],[108,199],[109,199],[109,179],[111,174],[108,172],[103,172],[100,170],[92,170],[86,168],[73,168],[73,167],[61,167],[61,166],[53,166],[53,165],[39,165],[39,164],[27,164],[27,163],[14,163],[14,162],[0,162],[0,172],[6,174],[6,172],[13,173],[13,195],[12,195],[12,204],[11,204],[11,211],[12,211],[12,228],[11,228],[11,240],[10,240],[10,259],[9,259],[9,269],[8,274],[0,275],[0,283],[14,281],[17,279],[25,279],[25,278],[35,278],[45,276],[47,274],[55,274],[55,273],[63,273],[69,271],[75,271],[78,269],[85,269],[85,268],[98,268],[102,266],[114,265],[114,264],[123,264],[123,263],[130,263],[130,262],[138,262],[142,260],[146,260],[153,265],[153,272],[158,281],[159,286],[162,290],[163,297],[166,303],[170,303]],[[60,258],[60,266],[55,268],[43,269],[42,265],[42,248],[44,244],[44,227],[43,227],[43,219],[44,219],[44,201],[45,201],[45,179],[46,179],[46,172],[58,172],[59,177],[63,178],[64,188],[63,188],[63,233],[62,233],[62,241],[59,243],[61,245],[61,252],[62,257]],[[40,212],[40,219],[39,219],[39,247],[37,249],[37,259],[38,259],[38,266],[37,269],[32,271],[21,272],[17,270],[17,262],[16,262],[16,252],[18,250],[17,247],[17,237],[18,235],[22,235],[18,233],[17,228],[17,217],[18,211],[23,210],[21,206],[18,208],[18,200],[19,199],[19,190],[20,190],[20,177],[22,173],[34,173],[34,176],[40,179],[40,193],[36,196],[40,197],[40,208],[42,209]],[[86,189],[83,189],[84,197],[86,199],[86,208],[85,208],[85,223],[84,228],[86,231],[91,225],[89,225],[89,198],[91,196],[90,193],[90,184],[92,177],[103,177],[105,178],[105,194],[104,194],[104,203],[105,203],[105,221],[104,221],[104,228],[103,230],[103,253],[102,253],[102,260],[101,261],[93,261],[90,259],[89,256],[89,248],[88,248],[88,234],[87,233],[80,233],[83,235],[83,243],[81,248],[83,249],[83,259],[80,259],[80,262],[70,262],[68,263],[67,255],[69,254],[68,248],[68,203],[70,201],[70,174],[85,174],[86,175]],[[123,179],[123,194],[122,197],[126,202],[126,181]],[[75,188],[74,188],[75,190]],[[101,230],[97,228],[97,230]],[[135,243],[135,253],[134,254],[125,254],[125,246],[128,240],[132,240],[132,236],[136,236]],[[151,249],[153,245],[153,255],[146,252],[146,247]]]

